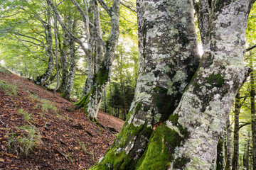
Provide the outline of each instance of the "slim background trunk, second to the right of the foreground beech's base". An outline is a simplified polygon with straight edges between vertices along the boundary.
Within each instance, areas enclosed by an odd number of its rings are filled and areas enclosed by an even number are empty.
[[[229,116],[226,122],[226,141],[227,141],[227,149],[226,149],[226,157],[225,157],[225,170],[231,169],[231,160],[232,160],[232,146],[231,146],[231,129],[230,129],[230,120]]]

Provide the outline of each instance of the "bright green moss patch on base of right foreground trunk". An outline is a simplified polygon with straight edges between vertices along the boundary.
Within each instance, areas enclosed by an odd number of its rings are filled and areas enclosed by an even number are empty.
[[[178,132],[168,128],[166,123],[159,125],[154,130],[149,140],[149,145],[144,152],[144,155],[139,159],[136,169],[168,169],[170,162],[174,161],[174,149],[181,147],[181,144],[188,137],[188,131],[178,125],[181,131],[181,137]],[[188,159],[183,157],[175,160],[177,166],[183,166],[188,162]]]

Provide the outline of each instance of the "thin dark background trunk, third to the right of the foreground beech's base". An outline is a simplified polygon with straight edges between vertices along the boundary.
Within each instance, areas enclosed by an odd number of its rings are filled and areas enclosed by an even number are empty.
[[[232,170],[238,170],[239,166],[239,113],[240,113],[240,94],[235,96],[235,120],[234,120],[234,137],[233,137],[233,159]]]

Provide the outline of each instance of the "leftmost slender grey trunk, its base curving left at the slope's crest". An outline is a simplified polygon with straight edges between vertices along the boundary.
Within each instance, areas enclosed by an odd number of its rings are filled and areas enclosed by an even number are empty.
[[[36,77],[36,79],[34,81],[38,85],[43,85],[48,80],[50,75],[53,73],[53,62],[54,62],[53,38],[52,38],[52,32],[51,32],[50,17],[51,17],[51,14],[50,14],[50,11],[48,10],[47,11],[47,20],[48,21],[47,21],[46,30],[47,30],[47,45],[48,45],[47,54],[48,54],[49,60],[48,60],[48,67],[46,69],[46,72],[43,75]]]

